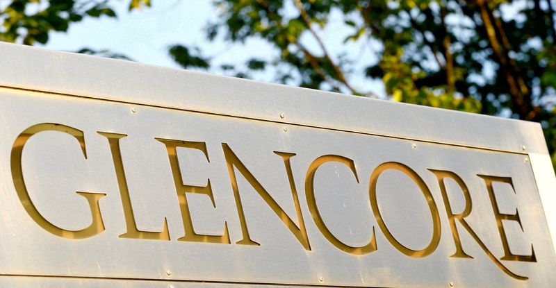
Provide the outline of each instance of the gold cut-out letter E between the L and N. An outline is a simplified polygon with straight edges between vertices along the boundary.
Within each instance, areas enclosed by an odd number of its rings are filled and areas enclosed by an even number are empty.
[[[224,221],[224,234],[222,236],[197,234],[197,232],[195,232],[195,229],[193,228],[193,220],[191,219],[186,193],[205,194],[209,198],[211,198],[213,207],[216,207],[216,205],[214,203],[214,196],[213,190],[211,188],[210,179],[206,180],[206,186],[183,185],[183,178],[181,178],[181,169],[179,168],[177,147],[197,149],[199,151],[202,151],[204,153],[206,161],[210,163],[211,160],[208,160],[208,152],[206,151],[205,142],[190,142],[161,138],[155,139],[162,142],[166,146],[168,159],[170,160],[170,167],[172,168],[172,175],[174,176],[174,185],[176,186],[176,192],[179,200],[179,209],[181,210],[183,230],[186,232],[186,235],[178,238],[178,241],[230,244],[231,242],[228,235],[228,226],[226,221]]]

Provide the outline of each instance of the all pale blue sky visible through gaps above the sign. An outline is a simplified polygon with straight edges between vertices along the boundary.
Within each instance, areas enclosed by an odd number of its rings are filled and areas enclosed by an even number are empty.
[[[206,40],[204,27],[209,21],[218,20],[218,10],[211,1],[200,0],[154,0],[152,7],[128,11],[128,0],[111,1],[117,12],[117,19],[110,17],[88,18],[72,24],[65,33],[51,33],[44,47],[62,51],[79,51],[82,48],[95,50],[109,49],[122,53],[134,61],[163,67],[179,66],[168,56],[171,44],[196,45],[202,53],[211,58],[214,67],[222,64],[241,65],[250,58],[272,59],[278,51],[263,40],[247,40],[245,44],[230,44],[219,37],[214,42]],[[347,28],[343,26],[343,15],[332,15],[331,24],[320,31],[323,40],[332,53],[348,51],[368,64],[378,58],[369,49],[361,49],[364,43],[343,43]],[[302,39],[310,49],[319,53],[318,45],[310,35]],[[352,71],[352,85],[359,90],[384,96],[382,81],[370,81],[364,77],[364,67],[355,65]],[[225,74],[215,68],[209,73]],[[275,82],[272,69],[254,74],[257,81]]]

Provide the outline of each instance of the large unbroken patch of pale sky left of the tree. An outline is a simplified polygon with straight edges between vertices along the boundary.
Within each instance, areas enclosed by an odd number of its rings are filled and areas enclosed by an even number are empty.
[[[127,10],[128,4],[113,1],[117,18],[85,18],[72,24],[67,33],[51,33],[44,46],[65,51],[110,49],[138,62],[165,67],[178,67],[167,56],[168,46],[174,43],[198,44],[208,53],[238,53],[205,40],[202,30],[213,16],[210,1],[155,0],[152,7],[133,11]]]

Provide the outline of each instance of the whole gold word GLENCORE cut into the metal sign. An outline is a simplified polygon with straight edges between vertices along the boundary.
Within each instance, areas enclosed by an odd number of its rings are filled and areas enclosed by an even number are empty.
[[[73,128],[70,126],[65,126],[63,124],[52,124],[52,123],[42,123],[36,124],[29,128],[26,128],[19,136],[15,139],[15,142],[12,147],[11,151],[11,170],[12,170],[12,178],[13,183],[15,185],[15,190],[17,195],[19,196],[19,200],[21,201],[24,209],[28,213],[28,215],[35,221],[40,227],[44,228],[48,232],[67,239],[83,239],[98,235],[99,233],[105,230],[104,222],[102,219],[102,214],[99,207],[99,200],[106,196],[103,193],[97,192],[76,192],[77,194],[83,196],[87,201],[90,207],[90,214],[92,217],[92,223],[87,228],[83,228],[81,230],[67,230],[61,227],[58,227],[45,219],[42,214],[40,214],[37,207],[31,200],[31,197],[28,194],[28,190],[26,188],[25,180],[24,180],[24,173],[22,170],[22,155],[23,150],[26,142],[29,138],[33,137],[38,133],[43,131],[58,131],[60,133],[67,133],[72,135],[81,146],[81,151],[83,152],[83,156],[85,159],[87,158],[87,153],[85,151],[85,138],[83,135],[83,131]],[[126,232],[120,235],[120,238],[129,238],[129,239],[154,239],[154,240],[170,240],[170,233],[168,232],[168,226],[166,218],[164,218],[164,226],[162,231],[160,232],[152,232],[152,231],[142,231],[137,228],[135,216],[133,214],[133,208],[131,205],[131,196],[129,194],[129,189],[127,186],[127,180],[124,173],[124,164],[122,162],[122,155],[120,151],[120,139],[126,137],[124,134],[118,133],[108,133],[108,132],[97,132],[99,137],[106,137],[108,140],[108,146],[111,151],[113,165],[115,168],[117,183],[120,189],[120,196],[122,199],[122,208],[124,211],[124,218],[126,221]],[[208,158],[208,151],[206,149],[205,142],[191,142],[186,140],[180,139],[163,139],[163,138],[154,138],[153,141],[158,141],[161,143],[161,149],[165,149],[167,151],[168,160],[170,161],[171,171],[174,185],[177,192],[177,197],[179,203],[179,209],[181,211],[181,217],[183,222],[183,229],[185,231],[185,235],[182,237],[177,238],[179,242],[204,242],[204,243],[218,243],[218,244],[231,244],[231,240],[229,237],[227,222],[224,221],[224,232],[222,235],[203,235],[195,232],[193,227],[193,221],[190,214],[188,201],[186,194],[187,193],[197,193],[197,194],[205,194],[208,196],[213,206],[215,207],[215,201],[213,198],[213,190],[211,188],[211,181],[210,179],[207,180],[207,184],[205,186],[194,186],[194,185],[184,185],[183,179],[181,176],[180,170],[180,163],[178,160],[177,155],[177,148],[184,148],[184,149],[196,149],[201,151],[207,162],[209,161]],[[293,205],[295,206],[295,211],[297,212],[297,219],[298,223],[295,223],[291,219],[291,217],[284,212],[284,210],[278,205],[278,203],[270,196],[267,192],[265,187],[259,183],[259,180],[253,176],[253,174],[247,169],[245,164],[238,158],[238,155],[234,153],[234,151],[230,148],[230,146],[226,143],[222,143],[222,153],[224,153],[224,158],[227,164],[227,172],[229,174],[229,179],[231,183],[231,188],[234,193],[235,205],[238,212],[238,218],[240,222],[241,232],[243,238],[236,242],[238,245],[251,245],[251,246],[259,246],[260,244],[256,242],[256,239],[252,239],[249,233],[249,228],[247,226],[247,221],[245,219],[245,213],[243,211],[243,203],[240,196],[240,191],[238,189],[238,182],[236,171],[238,171],[245,180],[254,188],[254,190],[261,196],[261,198],[265,201],[265,203],[275,212],[277,217],[284,223],[286,228],[291,231],[291,234],[297,241],[304,247],[306,251],[311,251],[311,244],[309,241],[309,236],[307,235],[306,228],[305,228],[305,221],[304,215],[302,214],[300,201],[297,194],[296,185],[293,180],[294,171],[292,171],[291,167],[291,160],[295,157],[295,153],[291,151],[272,151],[275,155],[277,155],[277,161],[284,162],[285,173],[288,177],[289,185],[291,188],[292,200]],[[269,151],[270,152],[270,151]],[[211,152],[215,153],[215,152]],[[336,246],[336,248],[341,249],[341,251],[345,251],[345,253],[350,253],[353,255],[365,255],[369,253],[373,253],[373,251],[377,251],[377,242],[376,242],[376,235],[375,235],[375,228],[373,227],[372,237],[370,237],[370,242],[368,242],[364,246],[350,246],[349,244],[345,244],[340,239],[334,236],[334,234],[329,230],[325,221],[322,219],[322,214],[318,208],[315,198],[315,174],[318,171],[319,167],[322,164],[328,162],[336,162],[345,165],[348,167],[355,176],[357,183],[359,183],[359,174],[356,169],[356,165],[354,160],[350,158],[346,158],[341,155],[321,155],[320,157],[316,158],[309,164],[309,167],[305,171],[305,181],[304,181],[304,192],[306,203],[309,208],[309,212],[311,213],[311,218],[313,219],[316,227],[322,233],[331,244]],[[377,183],[379,177],[384,171],[388,170],[395,170],[398,172],[403,173],[407,178],[413,181],[417,187],[419,187],[420,192],[423,194],[423,197],[427,201],[427,205],[430,209],[430,215],[432,217],[432,237],[431,241],[427,246],[420,250],[414,250],[408,248],[403,243],[401,243],[398,239],[396,239],[389,228],[386,226],[386,223],[382,217],[381,211],[379,209],[379,205],[377,203]],[[498,225],[498,233],[500,235],[501,244],[503,247],[504,255],[502,257],[496,257],[491,249],[486,246],[486,244],[480,239],[477,233],[471,228],[471,226],[466,221],[466,217],[468,217],[472,213],[473,202],[471,200],[471,194],[469,189],[464,183],[464,180],[456,173],[452,171],[445,171],[439,169],[428,168],[430,173],[434,174],[438,180],[439,189],[441,191],[441,196],[443,200],[443,205],[445,207],[445,212],[448,215],[448,221],[450,223],[450,230],[452,233],[452,239],[455,244],[455,251],[450,257],[455,258],[473,258],[472,255],[469,255],[464,250],[463,245],[461,244],[460,234],[467,233],[470,235],[475,242],[482,248],[482,251],[488,255],[489,259],[498,266],[499,269],[507,273],[508,276],[512,278],[516,278],[518,280],[527,280],[528,277],[518,275],[502,263],[502,261],[519,261],[519,262],[537,262],[535,254],[534,254],[534,247],[531,245],[531,251],[529,255],[515,255],[510,251],[509,242],[507,233],[505,232],[505,228],[502,225],[502,221],[515,221],[523,230],[521,226],[521,219],[518,214],[518,209],[516,207],[515,214],[505,214],[500,212],[498,203],[496,202],[495,191],[493,183],[505,183],[512,187],[514,193],[518,193],[514,189],[514,185],[512,182],[512,178],[509,176],[494,176],[494,175],[485,175],[485,174],[476,174],[477,178],[482,179],[484,182],[484,187],[486,189],[486,193],[489,196],[491,207],[493,210],[493,216],[496,220]],[[457,214],[452,211],[450,206],[450,198],[448,197],[448,193],[446,191],[445,180],[451,179],[459,185],[460,191],[464,196],[465,205],[463,212]],[[439,246],[439,242],[441,239],[441,218],[439,215],[439,207],[434,201],[432,197],[432,193],[430,188],[427,187],[425,181],[421,176],[411,169],[411,167],[407,166],[406,164],[400,162],[383,162],[379,164],[373,172],[370,174],[369,185],[368,185],[368,192],[370,198],[370,207],[377,221],[377,225],[379,226],[380,231],[384,234],[384,237],[388,239],[390,244],[409,257],[414,258],[422,258],[427,257],[428,255],[434,253],[436,248]],[[383,207],[384,209],[384,207]],[[456,225],[459,223],[459,228]]]

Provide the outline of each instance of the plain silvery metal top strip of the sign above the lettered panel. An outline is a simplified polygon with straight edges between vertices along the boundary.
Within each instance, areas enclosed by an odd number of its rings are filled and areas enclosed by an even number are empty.
[[[0,87],[548,155],[540,125],[528,121],[3,42],[0,55]]]

